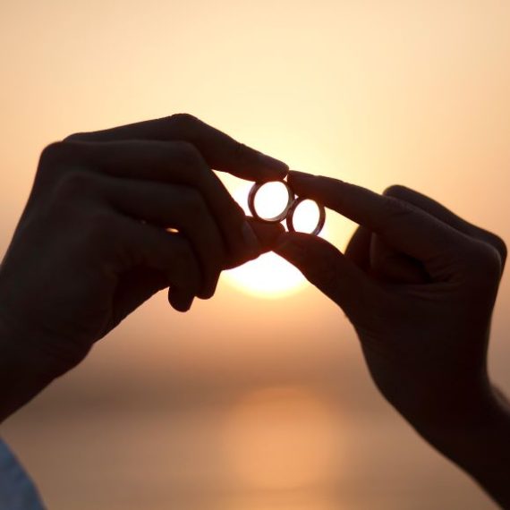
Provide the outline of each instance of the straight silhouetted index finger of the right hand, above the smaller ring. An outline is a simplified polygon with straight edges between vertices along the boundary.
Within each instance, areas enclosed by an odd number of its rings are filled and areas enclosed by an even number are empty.
[[[396,250],[421,260],[432,271],[441,270],[446,259],[457,260],[459,252],[469,249],[470,239],[465,234],[403,200],[302,172],[290,172],[288,181],[298,195],[317,200],[381,235]]]

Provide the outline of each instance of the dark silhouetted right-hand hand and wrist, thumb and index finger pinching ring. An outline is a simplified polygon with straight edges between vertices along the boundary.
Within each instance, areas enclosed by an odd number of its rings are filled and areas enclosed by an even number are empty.
[[[283,234],[276,252],[344,310],[387,400],[510,505],[510,414],[486,356],[505,243],[401,186],[289,181],[361,226],[345,254],[308,234]]]

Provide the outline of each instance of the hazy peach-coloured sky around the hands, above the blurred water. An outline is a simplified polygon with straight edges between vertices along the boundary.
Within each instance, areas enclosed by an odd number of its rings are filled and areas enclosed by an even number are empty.
[[[0,251],[47,143],[176,112],[293,168],[375,191],[405,184],[508,242],[509,22],[506,0],[3,2]],[[344,247],[353,226],[333,215],[328,225]],[[510,391],[507,310],[508,275],[490,361]],[[358,351],[343,313],[314,289],[262,300],[222,281],[187,316],[158,296],[66,388],[85,395],[108,378],[121,395],[132,374],[162,387],[203,379],[212,394],[264,380],[345,383],[367,396],[341,402],[389,416]]]

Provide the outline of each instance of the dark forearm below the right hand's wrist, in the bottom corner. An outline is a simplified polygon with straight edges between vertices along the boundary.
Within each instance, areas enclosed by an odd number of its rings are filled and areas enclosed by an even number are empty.
[[[429,443],[510,508],[510,404],[495,387],[461,421],[419,429]]]

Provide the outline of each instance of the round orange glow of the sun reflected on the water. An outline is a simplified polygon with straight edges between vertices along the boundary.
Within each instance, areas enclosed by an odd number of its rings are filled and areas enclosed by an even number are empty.
[[[334,472],[332,412],[303,387],[245,395],[225,422],[224,440],[232,476],[246,489],[312,488]]]

